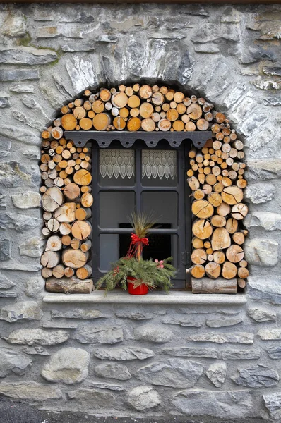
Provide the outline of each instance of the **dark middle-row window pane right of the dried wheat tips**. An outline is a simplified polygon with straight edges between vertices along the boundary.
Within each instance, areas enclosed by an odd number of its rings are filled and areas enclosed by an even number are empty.
[[[169,224],[171,228],[177,228],[177,192],[143,192],[142,209],[146,214],[152,215],[157,222]]]

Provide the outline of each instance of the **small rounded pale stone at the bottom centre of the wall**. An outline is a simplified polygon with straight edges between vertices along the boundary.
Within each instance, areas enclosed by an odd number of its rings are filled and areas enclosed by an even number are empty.
[[[127,401],[138,411],[150,410],[161,403],[161,397],[151,386],[137,386],[128,393]]]

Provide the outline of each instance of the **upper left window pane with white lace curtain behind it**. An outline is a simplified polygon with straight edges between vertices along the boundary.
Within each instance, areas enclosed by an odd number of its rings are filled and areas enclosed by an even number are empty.
[[[100,149],[100,185],[131,186],[134,183],[134,150]]]

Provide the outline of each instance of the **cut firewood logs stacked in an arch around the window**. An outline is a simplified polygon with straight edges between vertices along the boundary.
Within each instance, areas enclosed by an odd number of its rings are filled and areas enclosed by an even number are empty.
[[[42,276],[47,290],[90,292],[92,269],[90,194],[91,155],[75,147],[64,130],[184,131],[211,130],[202,149],[189,152],[188,183],[192,190],[193,278],[248,276],[243,243],[247,214],[243,200],[243,142],[224,114],[195,95],[158,85],[119,85],[84,92],[83,98],[61,107],[61,113],[42,132],[42,207],[47,243],[42,255]]]

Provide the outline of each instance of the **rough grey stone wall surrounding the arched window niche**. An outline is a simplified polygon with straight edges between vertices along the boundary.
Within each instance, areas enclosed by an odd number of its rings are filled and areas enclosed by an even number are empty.
[[[280,419],[281,6],[0,11],[1,395],[102,415]],[[42,301],[40,130],[86,87],[140,79],[207,98],[245,142],[245,306]]]

